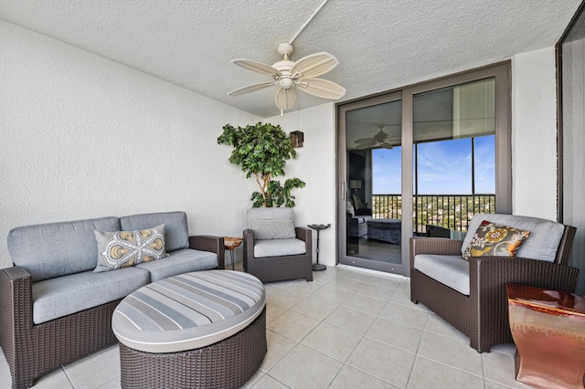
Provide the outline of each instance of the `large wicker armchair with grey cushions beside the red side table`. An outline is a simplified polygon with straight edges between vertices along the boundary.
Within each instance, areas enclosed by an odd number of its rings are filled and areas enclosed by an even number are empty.
[[[444,285],[417,268],[417,259],[422,258],[418,256],[426,255],[427,259],[435,261],[441,261],[442,256],[451,256],[455,261],[457,257],[461,258],[462,247],[467,247],[482,220],[505,226],[520,223],[517,228],[532,228],[525,244],[530,242],[538,250],[543,248],[542,245],[538,247],[541,242],[553,245],[549,248],[554,258],[550,258],[550,261],[524,258],[529,248],[522,251],[523,244],[516,251],[516,257],[472,257],[469,261],[463,260],[468,264],[463,266],[469,268],[468,295]],[[538,232],[538,228],[533,228],[541,223],[558,225],[558,239],[551,239],[549,235],[543,234],[543,230]],[[576,228],[534,217],[479,214],[473,217],[468,231],[463,242],[441,237],[410,238],[410,300],[415,304],[421,302],[462,331],[477,352],[489,352],[494,344],[513,342],[508,322],[506,283],[574,291],[579,269],[569,268],[567,262]],[[464,275],[465,269],[461,269]]]

